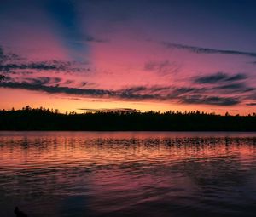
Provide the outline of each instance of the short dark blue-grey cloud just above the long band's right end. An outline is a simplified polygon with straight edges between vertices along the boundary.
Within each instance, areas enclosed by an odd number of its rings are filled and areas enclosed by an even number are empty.
[[[228,75],[224,72],[217,72],[208,76],[195,77],[195,83],[219,83],[219,82],[234,82],[246,79],[247,76],[242,73],[236,75]]]

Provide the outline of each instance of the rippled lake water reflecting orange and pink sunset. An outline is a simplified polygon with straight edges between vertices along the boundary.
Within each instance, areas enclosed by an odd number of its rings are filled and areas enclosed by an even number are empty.
[[[0,132],[0,216],[255,216],[255,133]]]

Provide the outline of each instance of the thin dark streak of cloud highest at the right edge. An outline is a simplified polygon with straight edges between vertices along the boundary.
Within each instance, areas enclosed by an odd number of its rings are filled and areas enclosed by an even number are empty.
[[[209,49],[209,48],[185,45],[181,43],[164,42],[162,44],[166,46],[166,48],[168,49],[184,49],[195,54],[230,54],[230,55],[244,55],[244,56],[256,57],[256,53],[254,52],[244,52],[244,51],[228,50],[228,49]]]

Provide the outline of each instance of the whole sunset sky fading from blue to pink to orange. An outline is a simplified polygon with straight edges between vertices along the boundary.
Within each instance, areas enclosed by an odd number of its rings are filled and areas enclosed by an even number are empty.
[[[0,109],[256,111],[256,2],[1,0]]]

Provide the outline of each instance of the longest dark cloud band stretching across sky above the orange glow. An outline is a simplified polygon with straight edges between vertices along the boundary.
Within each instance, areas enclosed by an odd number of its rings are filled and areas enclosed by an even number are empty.
[[[75,94],[95,98],[113,98],[119,100],[169,100],[183,104],[205,104],[215,106],[234,106],[241,101],[239,97],[219,97],[207,94],[205,89],[178,88],[171,86],[138,86],[130,89],[79,89],[61,87],[59,80],[49,77],[39,77],[26,82],[3,82],[0,87],[10,89],[27,89],[42,91],[48,94]],[[55,84],[55,86],[53,86]],[[50,86],[48,86],[50,85]]]

